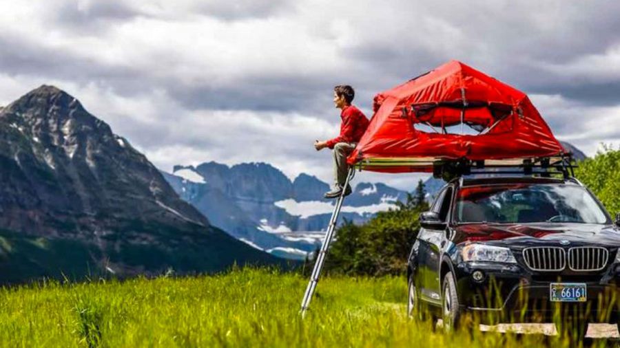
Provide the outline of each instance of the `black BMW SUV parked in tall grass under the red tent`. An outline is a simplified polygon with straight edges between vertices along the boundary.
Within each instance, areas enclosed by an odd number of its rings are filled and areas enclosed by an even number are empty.
[[[618,219],[575,178],[457,178],[420,224],[410,316],[430,313],[453,329],[465,317],[549,322],[560,313],[583,334],[588,322],[618,323]]]

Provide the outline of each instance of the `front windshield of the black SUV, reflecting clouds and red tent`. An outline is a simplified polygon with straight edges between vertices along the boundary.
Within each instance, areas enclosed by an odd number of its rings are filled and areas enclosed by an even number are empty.
[[[461,188],[455,220],[497,223],[608,222],[599,204],[581,186],[527,183]]]

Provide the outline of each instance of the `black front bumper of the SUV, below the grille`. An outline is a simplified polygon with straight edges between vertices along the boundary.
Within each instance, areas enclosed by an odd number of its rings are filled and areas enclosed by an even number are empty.
[[[481,281],[473,272],[484,274]],[[579,316],[592,322],[618,323],[620,319],[620,265],[601,272],[533,272],[518,264],[466,263],[455,267],[462,309],[479,314],[483,323],[548,322]],[[550,283],[586,283],[587,301],[550,301]]]

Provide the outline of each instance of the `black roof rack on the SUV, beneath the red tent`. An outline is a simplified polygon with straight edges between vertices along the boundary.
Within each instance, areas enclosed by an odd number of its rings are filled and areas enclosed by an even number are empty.
[[[575,176],[575,167],[577,165],[570,154],[508,160],[438,160],[433,162],[433,177],[442,178],[446,182],[464,175],[561,175],[568,179]]]

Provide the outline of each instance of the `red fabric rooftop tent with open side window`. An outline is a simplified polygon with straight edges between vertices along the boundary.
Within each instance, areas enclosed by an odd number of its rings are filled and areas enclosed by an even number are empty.
[[[377,94],[373,109],[348,158],[369,171],[431,172],[437,160],[564,153],[526,94],[459,61]]]

